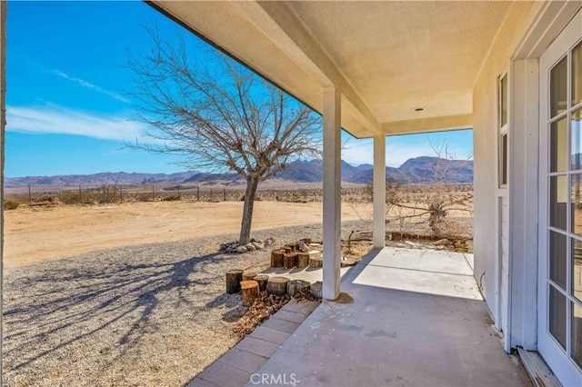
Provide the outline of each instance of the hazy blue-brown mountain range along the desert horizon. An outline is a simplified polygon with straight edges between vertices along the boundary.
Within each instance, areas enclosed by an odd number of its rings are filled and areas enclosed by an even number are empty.
[[[406,160],[397,168],[386,167],[386,177],[392,176],[404,184],[435,183],[446,171],[446,183],[473,183],[473,161],[448,160],[437,157],[421,156]],[[371,164],[352,165],[341,162],[341,180],[346,183],[367,184],[372,181],[374,167]],[[437,177],[435,176],[437,174]],[[285,171],[276,175],[279,180],[300,183],[319,183],[323,181],[323,162],[321,160],[296,161],[287,165]],[[188,171],[176,174],[127,174],[125,172],[101,174],[68,174],[56,176],[26,176],[5,178],[5,187],[27,185],[66,186],[100,184],[241,184],[238,174],[211,174]]]

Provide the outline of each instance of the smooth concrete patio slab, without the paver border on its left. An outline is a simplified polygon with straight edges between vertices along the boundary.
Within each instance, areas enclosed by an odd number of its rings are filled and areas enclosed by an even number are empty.
[[[390,250],[368,254],[346,274],[339,301],[322,303],[257,372],[268,382],[256,378],[246,385],[527,385],[503,351],[486,303],[473,299],[471,285],[442,291],[467,277],[445,273],[450,256],[435,276],[423,277],[438,285],[424,288],[407,276],[423,270],[386,267],[391,264],[386,257],[374,261],[383,253],[394,255]],[[464,258],[458,263],[468,266]],[[396,289],[398,278],[405,278],[402,286],[415,281],[417,291]]]

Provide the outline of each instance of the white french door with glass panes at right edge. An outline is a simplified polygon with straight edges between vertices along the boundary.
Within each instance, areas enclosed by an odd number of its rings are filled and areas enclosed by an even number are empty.
[[[582,385],[582,11],[540,58],[537,348]],[[544,204],[546,203],[546,204]]]

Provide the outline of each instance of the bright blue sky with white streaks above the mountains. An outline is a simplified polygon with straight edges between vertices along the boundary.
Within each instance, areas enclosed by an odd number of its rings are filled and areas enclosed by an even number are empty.
[[[131,120],[124,93],[133,82],[127,49],[146,52],[143,25],[153,24],[168,37],[179,29],[138,1],[8,2],[6,176],[184,170],[168,155],[123,149],[146,129]],[[190,44],[203,55],[205,43],[192,36]],[[473,152],[471,131],[396,136],[386,139],[386,164],[433,155],[428,138],[446,141],[458,158]],[[347,140],[342,158],[371,164],[371,141]]]

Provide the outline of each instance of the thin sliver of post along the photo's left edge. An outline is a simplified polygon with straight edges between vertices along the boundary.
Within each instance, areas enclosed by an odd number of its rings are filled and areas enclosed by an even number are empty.
[[[6,2],[0,2],[0,294],[4,294],[4,149],[5,149],[5,125],[6,125]],[[0,303],[0,327],[3,326],[4,310]],[[1,329],[1,328],[0,328]],[[2,352],[2,334],[0,334],[0,354]],[[0,356],[0,369],[2,359]],[[1,384],[1,382],[0,382]]]

